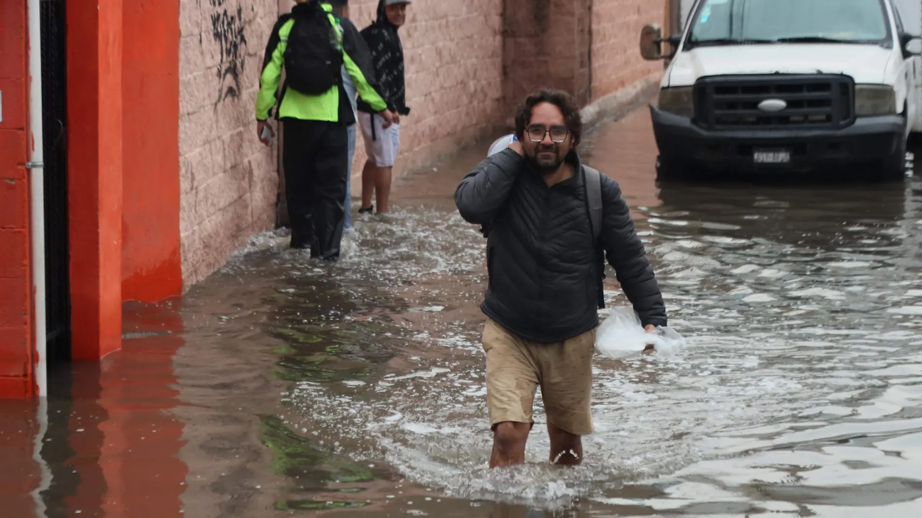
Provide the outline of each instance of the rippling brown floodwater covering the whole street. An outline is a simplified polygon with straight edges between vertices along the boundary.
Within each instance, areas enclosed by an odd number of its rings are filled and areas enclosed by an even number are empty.
[[[403,179],[337,265],[270,233],[129,307],[125,350],[77,366],[50,418],[0,404],[0,453],[22,453],[0,497],[49,517],[922,515],[919,178],[657,186],[644,111],[587,145],[688,345],[597,357],[585,465],[547,463],[538,396],[526,465],[486,467],[484,241],[451,197],[478,148]]]

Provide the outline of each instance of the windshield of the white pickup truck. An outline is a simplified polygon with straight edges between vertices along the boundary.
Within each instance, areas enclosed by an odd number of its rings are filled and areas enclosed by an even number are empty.
[[[878,43],[890,34],[881,0],[703,0],[693,16],[693,46]]]

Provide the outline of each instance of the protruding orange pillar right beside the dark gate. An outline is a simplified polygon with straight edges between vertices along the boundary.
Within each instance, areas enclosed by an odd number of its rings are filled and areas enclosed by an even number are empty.
[[[67,2],[73,359],[122,345],[122,0]]]

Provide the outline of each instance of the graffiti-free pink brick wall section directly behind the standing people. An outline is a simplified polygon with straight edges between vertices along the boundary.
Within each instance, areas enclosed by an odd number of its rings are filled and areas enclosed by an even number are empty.
[[[360,30],[375,16],[378,0],[350,0]],[[401,120],[396,174],[454,152],[495,130],[502,113],[502,0],[418,1],[400,29],[407,66],[407,104]],[[361,193],[365,147],[352,165],[352,192]]]

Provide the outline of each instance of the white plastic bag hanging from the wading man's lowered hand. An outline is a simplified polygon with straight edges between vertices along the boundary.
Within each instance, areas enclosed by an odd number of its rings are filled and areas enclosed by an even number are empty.
[[[639,356],[648,345],[655,348],[656,354],[671,356],[685,346],[685,338],[669,327],[656,326],[655,333],[647,333],[637,313],[629,307],[612,308],[609,317],[598,326],[596,350],[606,358]]]

